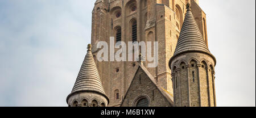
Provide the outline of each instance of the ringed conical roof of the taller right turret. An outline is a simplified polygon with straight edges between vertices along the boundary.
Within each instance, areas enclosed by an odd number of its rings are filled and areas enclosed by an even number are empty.
[[[210,53],[199,27],[196,24],[195,18],[193,17],[191,6],[188,3],[187,13],[180,31],[174,56],[191,51]]]

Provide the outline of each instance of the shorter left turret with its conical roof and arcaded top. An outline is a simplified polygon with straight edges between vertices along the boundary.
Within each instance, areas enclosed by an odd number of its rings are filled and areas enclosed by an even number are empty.
[[[102,87],[90,44],[76,83],[67,97],[67,103],[69,107],[106,107],[109,104],[109,98]]]

